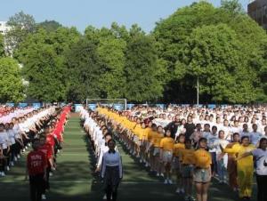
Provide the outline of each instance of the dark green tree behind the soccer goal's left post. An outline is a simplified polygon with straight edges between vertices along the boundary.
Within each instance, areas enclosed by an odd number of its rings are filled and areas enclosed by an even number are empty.
[[[82,38],[72,44],[66,53],[68,76],[68,101],[85,101],[86,98],[101,98],[101,61],[92,41]]]

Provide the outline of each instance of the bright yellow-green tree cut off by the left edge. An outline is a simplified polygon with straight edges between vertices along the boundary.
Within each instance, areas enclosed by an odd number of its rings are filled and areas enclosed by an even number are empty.
[[[23,100],[23,84],[20,67],[12,58],[0,58],[0,101]]]

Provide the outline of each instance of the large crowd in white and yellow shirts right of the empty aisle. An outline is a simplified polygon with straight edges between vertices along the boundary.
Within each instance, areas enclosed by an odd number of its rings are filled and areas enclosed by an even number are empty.
[[[164,177],[165,184],[173,184],[175,176],[176,192],[184,194],[185,200],[194,200],[194,182],[198,201],[207,200],[212,178],[228,183],[241,199],[249,200],[254,172],[258,200],[267,200],[263,190],[267,181],[266,115],[266,107],[231,106],[81,111],[100,160],[106,135],[116,136],[142,165]]]

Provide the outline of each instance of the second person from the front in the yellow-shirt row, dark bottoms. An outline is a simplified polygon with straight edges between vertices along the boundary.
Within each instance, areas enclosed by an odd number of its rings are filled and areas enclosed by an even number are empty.
[[[185,140],[185,149],[180,152],[180,161],[182,163],[182,181],[185,189],[185,201],[194,200],[192,197],[193,167],[195,165],[195,150],[192,149],[192,141]]]

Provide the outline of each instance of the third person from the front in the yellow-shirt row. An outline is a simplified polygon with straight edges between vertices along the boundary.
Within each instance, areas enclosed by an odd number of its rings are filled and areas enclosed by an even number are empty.
[[[180,153],[182,149],[185,149],[184,145],[185,135],[180,134],[177,138],[176,143],[174,144],[174,171],[176,174],[176,183],[177,189],[176,193],[184,193],[183,185],[182,185],[182,169],[180,165]]]

